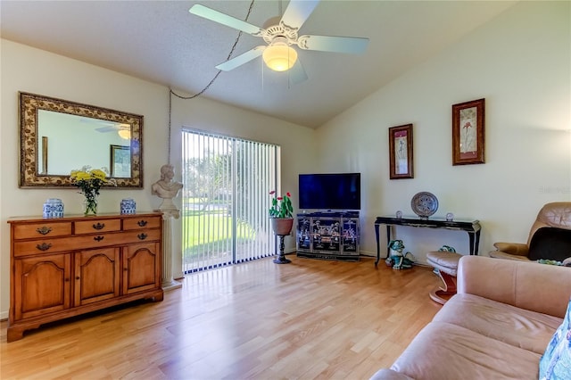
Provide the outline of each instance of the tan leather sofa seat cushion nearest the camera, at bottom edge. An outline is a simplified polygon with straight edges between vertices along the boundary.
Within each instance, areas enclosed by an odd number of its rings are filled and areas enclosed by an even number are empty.
[[[462,326],[430,322],[391,369],[415,379],[537,379],[541,354],[477,334]]]

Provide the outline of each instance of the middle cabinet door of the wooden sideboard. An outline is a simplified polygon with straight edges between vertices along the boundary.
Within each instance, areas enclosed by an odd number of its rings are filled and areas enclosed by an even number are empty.
[[[119,248],[75,254],[75,306],[108,300],[120,295]]]

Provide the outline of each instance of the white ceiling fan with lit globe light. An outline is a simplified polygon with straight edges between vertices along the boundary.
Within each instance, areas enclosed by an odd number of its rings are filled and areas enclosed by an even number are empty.
[[[307,79],[307,74],[297,59],[297,52],[292,45],[303,50],[320,52],[360,54],[368,45],[365,37],[335,37],[335,36],[298,36],[298,30],[310,17],[311,12],[319,4],[319,0],[291,0],[285,8],[283,16],[277,16],[266,21],[262,28],[249,22],[228,16],[201,4],[194,4],[188,12],[204,19],[218,22],[227,27],[241,30],[252,36],[262,37],[266,44],[252,48],[244,54],[220,63],[218,70],[229,71],[262,56],[271,70],[291,70],[290,78],[294,83]]]

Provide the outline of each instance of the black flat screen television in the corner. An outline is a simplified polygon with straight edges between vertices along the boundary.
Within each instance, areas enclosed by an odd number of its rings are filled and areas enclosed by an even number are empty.
[[[360,173],[300,174],[300,210],[360,210]]]

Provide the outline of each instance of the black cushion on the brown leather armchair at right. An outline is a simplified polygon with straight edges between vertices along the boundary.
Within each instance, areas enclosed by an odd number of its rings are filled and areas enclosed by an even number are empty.
[[[529,260],[563,261],[571,257],[571,229],[542,227],[529,243]]]

